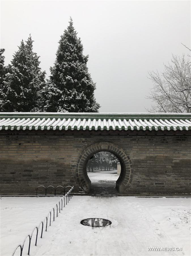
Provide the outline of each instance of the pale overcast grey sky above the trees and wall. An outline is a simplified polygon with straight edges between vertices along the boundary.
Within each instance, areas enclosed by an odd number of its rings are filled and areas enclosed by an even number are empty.
[[[181,42],[190,47],[190,1],[1,1],[5,65],[31,33],[48,77],[70,16],[89,54],[99,112],[146,112],[147,72],[189,53]]]

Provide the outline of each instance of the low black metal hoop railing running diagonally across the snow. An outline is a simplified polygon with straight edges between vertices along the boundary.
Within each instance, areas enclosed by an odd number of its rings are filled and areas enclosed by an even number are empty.
[[[44,187],[44,186],[43,186],[43,187]],[[50,186],[49,186],[49,187],[50,187]],[[59,187],[59,186],[58,186],[58,187]],[[58,187],[57,187],[57,188],[58,188]],[[60,186],[60,187],[62,187],[62,186]],[[41,238],[43,238],[44,222],[46,221],[46,229],[45,229],[45,231],[47,231],[47,227],[48,227],[48,217],[49,217],[49,215],[50,215],[50,224],[49,224],[49,226],[51,226],[52,210],[53,210],[53,221],[55,221],[55,211],[56,211],[56,217],[58,217],[58,211],[59,211],[59,213],[60,213],[60,210],[62,210],[62,209],[65,207],[65,205],[67,205],[67,203],[70,201],[70,199],[74,196],[74,186],[73,186],[73,187],[72,187],[72,186],[67,186],[67,187],[71,187],[71,189],[70,189],[65,195],[63,195],[63,197],[60,198],[60,200],[55,204],[55,206],[48,212],[48,215],[44,218],[44,221],[41,221],[40,224],[39,224],[39,226],[36,226],[36,227],[33,229],[31,235],[28,234],[28,235],[25,237],[25,239],[24,239],[22,245],[19,244],[19,245],[16,246],[16,248],[14,249],[14,251],[13,251],[13,253],[12,253],[12,256],[14,256],[14,254],[15,254],[15,252],[16,252],[16,250],[17,250],[18,248],[20,248],[20,256],[22,256],[23,247],[24,247],[24,244],[25,244],[25,242],[26,242],[26,240],[27,240],[27,237],[29,237],[29,247],[28,247],[28,255],[29,255],[29,253],[30,253],[30,247],[31,247],[31,239],[32,239],[32,236],[33,236],[33,233],[34,233],[35,230],[37,230],[36,239],[35,239],[35,246],[37,246],[37,239],[38,239],[38,234],[39,234],[40,227],[42,226]],[[65,187],[65,189],[66,189],[67,187]],[[37,189],[38,189],[38,188],[37,188]],[[55,190],[55,191],[56,191],[56,190]],[[65,190],[64,190],[64,191],[65,191]],[[56,194],[56,192],[55,192],[55,194]]]

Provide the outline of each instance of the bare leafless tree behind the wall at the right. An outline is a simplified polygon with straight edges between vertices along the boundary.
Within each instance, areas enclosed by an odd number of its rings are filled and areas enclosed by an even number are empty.
[[[154,104],[149,112],[191,113],[191,62],[184,55],[172,55],[171,63],[164,65],[161,75],[148,72],[153,82],[148,99]]]

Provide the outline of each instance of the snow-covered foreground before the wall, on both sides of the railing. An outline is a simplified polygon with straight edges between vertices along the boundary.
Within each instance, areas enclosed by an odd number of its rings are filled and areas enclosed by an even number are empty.
[[[11,255],[57,200],[1,198],[1,255]],[[74,196],[37,247],[33,241],[30,255],[190,255],[190,204],[190,198]],[[81,225],[86,218],[105,218],[112,224]],[[182,251],[147,247],[182,247]]]

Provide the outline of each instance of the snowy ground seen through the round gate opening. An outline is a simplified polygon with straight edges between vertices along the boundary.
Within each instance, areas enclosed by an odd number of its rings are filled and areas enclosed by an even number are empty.
[[[117,170],[87,172],[91,182],[116,181],[119,178]]]

